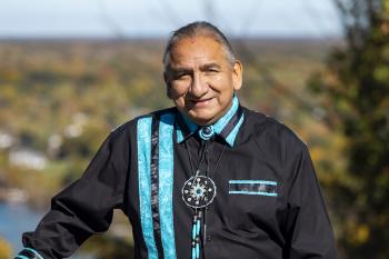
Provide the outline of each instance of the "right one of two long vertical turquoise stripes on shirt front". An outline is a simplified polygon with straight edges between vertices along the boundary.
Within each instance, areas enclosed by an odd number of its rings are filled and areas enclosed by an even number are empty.
[[[164,259],[176,259],[173,223],[173,127],[174,114],[166,113],[159,124],[159,215]]]

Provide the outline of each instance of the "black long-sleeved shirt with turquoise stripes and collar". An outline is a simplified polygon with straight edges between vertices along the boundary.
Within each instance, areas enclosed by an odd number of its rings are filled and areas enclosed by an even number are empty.
[[[189,259],[193,209],[181,191],[199,169],[217,187],[203,212],[200,258],[337,258],[306,145],[285,124],[233,103],[209,141],[176,108],[113,130],[84,175],[53,197],[36,231],[23,235],[29,250],[20,255],[69,257],[121,209],[132,225],[136,258]]]

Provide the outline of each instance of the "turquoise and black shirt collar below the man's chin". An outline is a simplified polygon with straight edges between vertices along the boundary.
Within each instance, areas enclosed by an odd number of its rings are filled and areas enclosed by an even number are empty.
[[[193,121],[178,112],[176,117],[177,142],[181,143],[188,137],[193,135],[200,127]],[[242,108],[239,104],[238,97],[233,96],[232,106],[227,113],[212,124],[215,133],[219,135],[226,142],[233,147],[235,139],[243,122]]]

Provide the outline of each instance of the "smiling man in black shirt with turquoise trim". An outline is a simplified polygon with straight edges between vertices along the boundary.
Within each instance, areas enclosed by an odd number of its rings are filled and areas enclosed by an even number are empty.
[[[113,130],[17,258],[69,257],[116,208],[139,259],[337,258],[307,147],[239,104],[242,64],[226,37],[208,22],[180,28],[163,64],[176,107]]]

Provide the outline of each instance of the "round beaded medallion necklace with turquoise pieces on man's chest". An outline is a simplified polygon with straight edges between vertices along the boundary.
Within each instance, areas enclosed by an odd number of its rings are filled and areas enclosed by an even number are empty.
[[[192,170],[193,176],[190,177],[182,187],[182,200],[183,202],[194,210],[192,217],[192,231],[191,231],[191,259],[200,258],[200,230],[201,230],[201,220],[203,222],[203,237],[206,236],[207,225],[203,218],[203,209],[207,208],[210,203],[212,203],[213,199],[217,195],[217,187],[215,181],[212,180],[212,175],[219,166],[221,157],[226,150],[226,145],[222,151],[219,155],[219,158],[215,165],[213,170],[209,171],[209,140],[215,136],[213,127],[208,126],[203,127],[199,130],[199,136],[201,140],[201,155],[200,161],[198,163],[198,168],[194,171],[192,157],[190,155],[188,142],[186,141],[186,148],[188,151],[190,168]],[[206,173],[201,175],[200,167],[206,160]],[[205,238],[203,238],[205,240]]]

